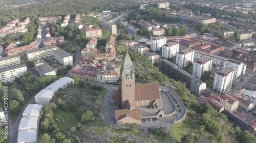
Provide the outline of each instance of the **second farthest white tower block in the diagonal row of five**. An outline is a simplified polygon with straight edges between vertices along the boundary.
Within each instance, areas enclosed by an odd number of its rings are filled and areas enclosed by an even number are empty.
[[[179,51],[180,44],[178,42],[169,42],[162,47],[162,58],[173,58]]]

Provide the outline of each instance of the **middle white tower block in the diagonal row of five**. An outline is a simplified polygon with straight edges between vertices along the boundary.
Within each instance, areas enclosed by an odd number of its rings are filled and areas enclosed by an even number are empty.
[[[176,65],[179,66],[180,68],[185,68],[189,61],[193,63],[194,53],[195,51],[189,48],[184,49],[182,51],[178,51],[176,56]]]

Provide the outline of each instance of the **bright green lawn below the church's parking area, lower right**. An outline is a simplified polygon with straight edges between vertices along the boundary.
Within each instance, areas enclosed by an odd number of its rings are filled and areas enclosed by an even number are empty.
[[[189,121],[184,121],[182,123],[175,123],[171,129],[174,137],[177,141],[180,141],[180,138],[193,130],[193,124]]]

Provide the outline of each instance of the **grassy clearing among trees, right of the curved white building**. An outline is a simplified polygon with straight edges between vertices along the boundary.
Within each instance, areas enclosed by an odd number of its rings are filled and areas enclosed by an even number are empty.
[[[78,123],[78,119],[76,113],[73,111],[65,111],[61,109],[56,109],[54,111],[54,118],[58,117],[58,115],[65,117],[67,116],[69,120],[66,120],[64,123],[59,123],[56,119],[55,122],[58,124],[60,131],[68,131],[71,127],[75,126]]]

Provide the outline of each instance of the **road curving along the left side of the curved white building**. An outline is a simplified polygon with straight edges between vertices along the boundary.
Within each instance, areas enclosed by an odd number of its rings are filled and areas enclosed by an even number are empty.
[[[10,143],[17,143],[17,138],[18,138],[18,126],[19,126],[19,122],[20,120],[22,120],[22,113],[24,112],[24,110],[26,109],[26,107],[29,104],[35,104],[35,98],[32,98],[28,104],[26,106],[23,107],[22,111],[20,112],[19,116],[16,119],[16,122],[14,124],[12,124],[11,121],[11,117],[10,115],[8,116],[8,130],[9,130],[9,136],[10,136]]]

